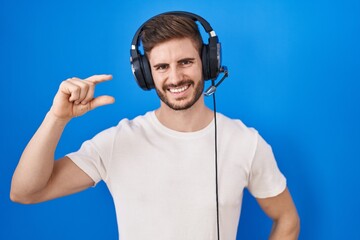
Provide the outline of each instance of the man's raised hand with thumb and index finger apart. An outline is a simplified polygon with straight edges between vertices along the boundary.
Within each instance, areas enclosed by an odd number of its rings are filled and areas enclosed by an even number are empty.
[[[60,119],[70,120],[96,107],[111,104],[115,99],[111,96],[94,98],[95,86],[109,81],[111,75],[93,75],[84,80],[69,78],[60,84],[51,107],[51,112]]]

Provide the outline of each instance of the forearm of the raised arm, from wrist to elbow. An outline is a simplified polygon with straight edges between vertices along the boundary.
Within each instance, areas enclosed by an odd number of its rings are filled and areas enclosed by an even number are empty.
[[[14,172],[11,194],[30,196],[44,188],[54,166],[54,153],[67,121],[50,112],[26,146]]]

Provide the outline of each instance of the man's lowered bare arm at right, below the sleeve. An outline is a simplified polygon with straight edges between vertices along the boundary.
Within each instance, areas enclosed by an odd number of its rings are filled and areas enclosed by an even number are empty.
[[[300,233],[300,219],[289,190],[270,198],[257,198],[262,210],[273,220],[270,240],[296,240]]]

